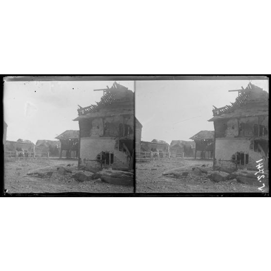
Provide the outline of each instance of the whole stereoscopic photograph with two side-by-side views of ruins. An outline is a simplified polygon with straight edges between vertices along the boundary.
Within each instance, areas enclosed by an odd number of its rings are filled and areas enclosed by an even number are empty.
[[[5,193],[269,193],[268,78],[67,78],[5,78]]]

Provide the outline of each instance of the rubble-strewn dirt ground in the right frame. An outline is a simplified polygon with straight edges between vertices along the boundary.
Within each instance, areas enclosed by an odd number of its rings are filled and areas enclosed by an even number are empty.
[[[185,178],[162,176],[166,170],[183,167],[206,165],[212,167],[210,159],[156,160],[137,162],[135,169],[137,193],[220,193],[220,192],[259,192],[257,186],[241,184],[237,181],[213,182],[204,176],[189,173]],[[268,190],[266,191],[268,192]]]

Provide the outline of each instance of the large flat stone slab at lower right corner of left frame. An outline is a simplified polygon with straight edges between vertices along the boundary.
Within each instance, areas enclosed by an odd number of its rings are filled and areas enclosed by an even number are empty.
[[[103,182],[113,185],[134,185],[134,174],[127,171],[103,169],[97,172],[95,176],[101,178]]]

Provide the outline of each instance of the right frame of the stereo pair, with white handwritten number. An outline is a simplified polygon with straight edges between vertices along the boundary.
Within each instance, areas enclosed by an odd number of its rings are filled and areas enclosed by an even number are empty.
[[[137,193],[269,192],[269,81],[135,81]]]

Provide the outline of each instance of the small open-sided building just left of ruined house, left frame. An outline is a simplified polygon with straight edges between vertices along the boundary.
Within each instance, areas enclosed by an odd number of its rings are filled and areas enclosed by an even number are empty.
[[[66,130],[55,137],[60,141],[60,158],[78,158],[79,154],[79,131]]]

